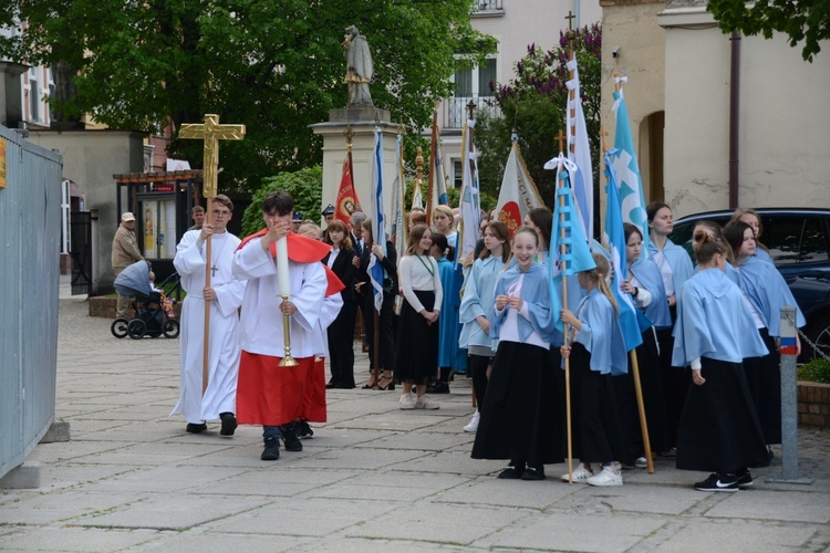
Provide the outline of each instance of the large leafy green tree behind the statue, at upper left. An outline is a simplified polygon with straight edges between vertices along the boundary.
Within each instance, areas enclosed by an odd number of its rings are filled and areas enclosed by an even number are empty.
[[[473,30],[473,0],[0,0],[0,58],[69,67],[76,94],[56,101],[66,118],[89,114],[113,128],[159,131],[216,113],[245,124],[221,146],[220,188],[256,189],[262,177],[321,161],[309,125],[347,100],[343,35],[369,39],[372,96],[395,121],[428,125],[447,96],[457,52],[480,60],[495,39]],[[200,166],[197,140],[170,154]]]

